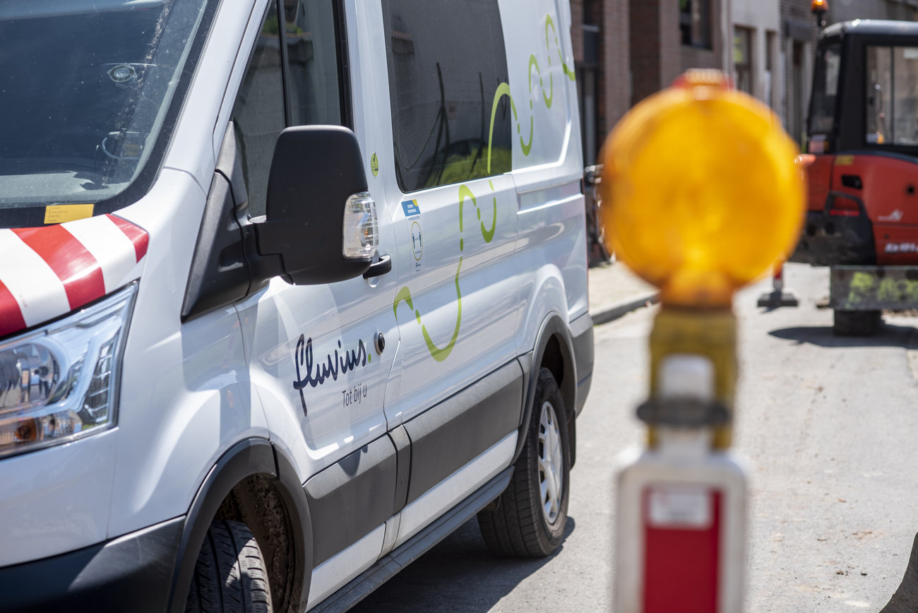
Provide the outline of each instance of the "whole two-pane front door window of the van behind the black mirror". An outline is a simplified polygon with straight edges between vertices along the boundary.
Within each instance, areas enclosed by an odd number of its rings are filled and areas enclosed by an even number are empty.
[[[264,215],[274,142],[281,130],[316,124],[340,126],[345,117],[338,3],[284,0],[283,32],[279,5],[275,0],[268,7],[232,113],[252,217]],[[289,95],[286,110],[284,61]]]

